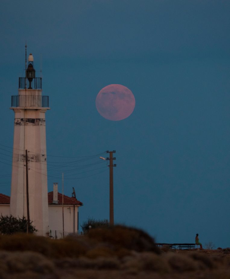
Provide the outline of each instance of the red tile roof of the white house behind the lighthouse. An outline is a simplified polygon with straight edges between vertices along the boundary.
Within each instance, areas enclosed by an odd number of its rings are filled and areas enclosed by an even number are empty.
[[[4,194],[0,194],[0,204],[10,204],[10,197]],[[53,204],[53,191],[48,193],[48,204]],[[62,194],[58,193],[58,204],[62,205]],[[64,195],[64,204],[67,205],[83,205],[82,202],[74,197],[68,197]]]

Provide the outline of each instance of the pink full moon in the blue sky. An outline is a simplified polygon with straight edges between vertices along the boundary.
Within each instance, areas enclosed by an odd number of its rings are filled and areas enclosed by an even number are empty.
[[[110,84],[102,88],[96,97],[96,108],[106,119],[118,121],[130,116],[135,107],[131,90],[121,84]]]

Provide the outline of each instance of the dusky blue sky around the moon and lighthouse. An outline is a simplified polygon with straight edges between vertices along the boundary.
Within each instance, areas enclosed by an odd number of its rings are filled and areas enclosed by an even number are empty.
[[[25,43],[42,69],[48,190],[64,173],[79,226],[109,219],[106,150],[116,150],[114,220],[157,242],[230,247],[230,2],[0,2],[0,193],[10,195],[18,77]],[[111,121],[98,92],[128,87],[133,113]],[[32,172],[33,170],[30,170]]]

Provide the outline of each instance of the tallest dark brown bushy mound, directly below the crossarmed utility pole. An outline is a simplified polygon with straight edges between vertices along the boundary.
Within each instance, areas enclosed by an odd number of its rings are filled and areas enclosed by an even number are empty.
[[[160,254],[160,250],[156,247],[153,238],[140,229],[124,226],[91,229],[87,237],[98,242],[110,243],[115,249],[122,247],[138,252],[152,251]]]

